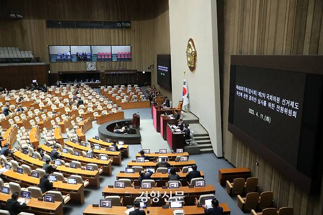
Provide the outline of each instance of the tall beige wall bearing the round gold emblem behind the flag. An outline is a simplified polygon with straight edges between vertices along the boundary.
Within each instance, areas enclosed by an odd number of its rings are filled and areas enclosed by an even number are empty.
[[[189,111],[209,132],[216,156],[222,156],[216,1],[169,0],[170,53],[173,101],[182,98],[183,71],[187,71]],[[188,39],[197,52],[196,71],[186,61]]]

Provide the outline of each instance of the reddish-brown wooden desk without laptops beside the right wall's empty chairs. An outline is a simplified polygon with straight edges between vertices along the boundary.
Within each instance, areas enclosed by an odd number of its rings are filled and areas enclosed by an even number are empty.
[[[220,185],[225,185],[226,181],[233,182],[236,178],[247,179],[251,177],[251,170],[246,167],[219,169],[218,179]]]

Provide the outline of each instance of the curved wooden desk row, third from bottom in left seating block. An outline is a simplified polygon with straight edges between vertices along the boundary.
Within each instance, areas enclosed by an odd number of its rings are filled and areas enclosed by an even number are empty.
[[[31,158],[20,151],[15,152],[13,155],[15,156],[16,161],[27,164],[32,169],[43,167],[44,161]],[[80,169],[80,168],[74,169],[74,168],[61,165],[61,166],[57,166],[55,171],[63,173],[64,177],[70,177],[71,175],[80,175],[82,176],[83,180],[88,179],[91,187],[94,187],[94,188],[100,187],[100,175],[98,170],[89,171],[89,170]]]

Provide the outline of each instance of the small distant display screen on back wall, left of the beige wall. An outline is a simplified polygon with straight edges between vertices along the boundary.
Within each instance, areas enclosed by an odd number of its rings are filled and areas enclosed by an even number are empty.
[[[157,54],[157,83],[171,90],[171,77],[170,54]]]

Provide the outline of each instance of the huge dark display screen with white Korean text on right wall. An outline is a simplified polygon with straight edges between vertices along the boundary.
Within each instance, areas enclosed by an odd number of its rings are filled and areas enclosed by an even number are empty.
[[[313,178],[322,88],[321,75],[232,65],[229,131],[286,176]]]

